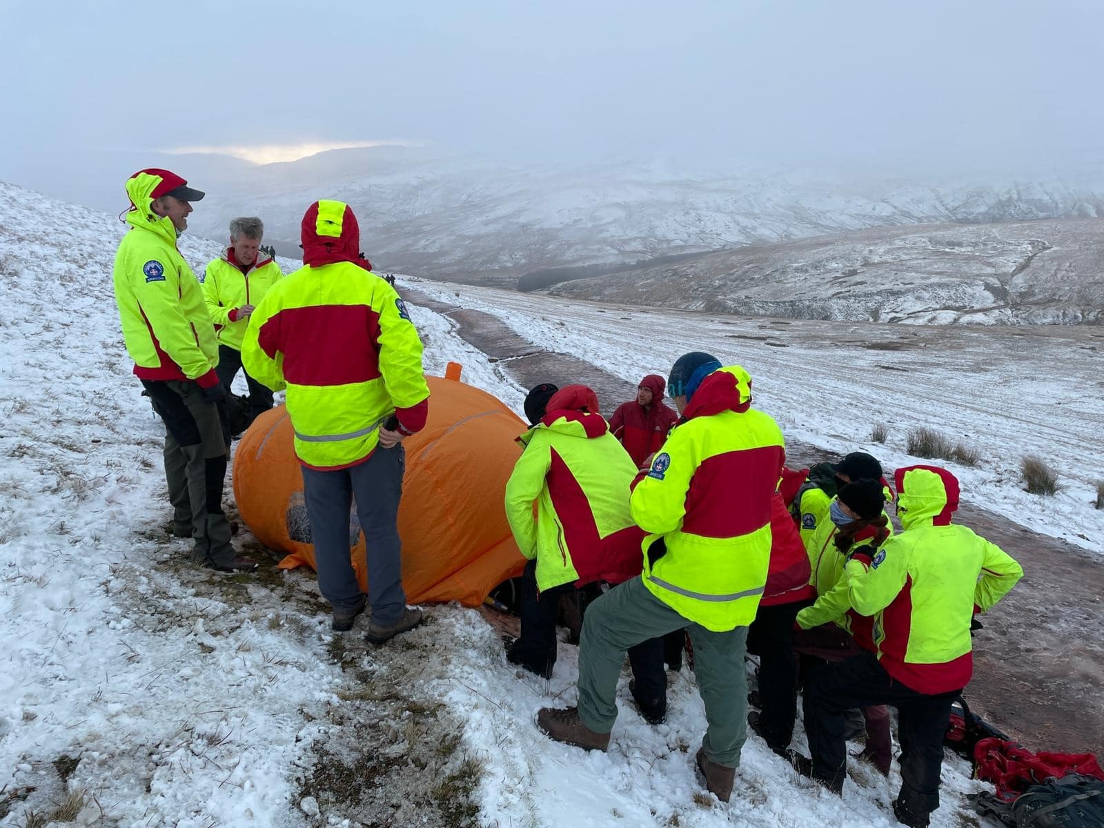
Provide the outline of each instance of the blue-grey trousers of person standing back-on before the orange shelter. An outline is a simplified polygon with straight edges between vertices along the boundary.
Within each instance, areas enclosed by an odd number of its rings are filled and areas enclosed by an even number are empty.
[[[355,609],[360,584],[349,558],[357,534],[350,531],[353,499],[364,531],[368,603],[372,620],[391,624],[406,606],[402,581],[399,501],[406,453],[402,445],[376,448],[364,463],[336,471],[302,467],[302,493],[315,544],[318,588],[335,611]]]

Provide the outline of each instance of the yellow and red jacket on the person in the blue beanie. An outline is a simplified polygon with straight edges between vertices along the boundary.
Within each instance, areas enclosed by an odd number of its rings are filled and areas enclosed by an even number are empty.
[[[777,423],[750,406],[743,368],[709,374],[630,501],[649,533],[645,586],[714,631],[751,624],[771,559],[771,498],[785,449]]]

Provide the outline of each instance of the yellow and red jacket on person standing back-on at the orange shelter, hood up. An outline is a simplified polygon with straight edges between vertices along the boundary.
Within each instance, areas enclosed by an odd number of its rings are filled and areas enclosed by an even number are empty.
[[[299,461],[346,468],[368,459],[392,415],[406,434],[425,425],[422,341],[399,294],[359,256],[347,204],[312,204],[302,247],[304,267],[273,285],[250,317],[242,363],[274,391],[287,389]]]

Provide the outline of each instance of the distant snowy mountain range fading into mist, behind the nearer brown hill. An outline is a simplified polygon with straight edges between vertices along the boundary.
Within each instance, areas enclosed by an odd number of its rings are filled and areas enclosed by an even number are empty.
[[[364,252],[384,269],[512,286],[541,267],[637,262],[863,227],[1104,215],[1104,173],[1022,179],[718,171],[687,159],[519,167],[386,147],[227,174],[203,188],[209,195],[194,226],[219,238],[234,215],[259,214],[272,241],[290,253],[306,205],[342,199],[357,211]]]

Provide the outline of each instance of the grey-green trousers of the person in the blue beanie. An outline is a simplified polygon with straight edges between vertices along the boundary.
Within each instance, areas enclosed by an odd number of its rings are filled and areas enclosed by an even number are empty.
[[[705,703],[709,729],[702,747],[716,764],[736,767],[747,740],[747,627],[713,633],[692,624],[652,595],[639,575],[586,609],[578,645],[578,718],[597,733],[612,731],[628,648],[683,628],[693,643],[693,671]]]

